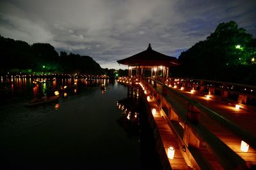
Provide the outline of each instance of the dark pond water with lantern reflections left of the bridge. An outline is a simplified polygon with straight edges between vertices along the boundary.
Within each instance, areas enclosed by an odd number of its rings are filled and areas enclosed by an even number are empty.
[[[76,80],[70,81],[69,86]],[[65,81],[38,85],[37,90],[21,85],[25,90],[13,92],[15,101],[0,107],[0,169],[160,169],[140,100],[127,99],[127,87],[115,81],[105,80],[107,89],[102,91],[102,82],[86,86],[79,80],[67,97],[63,91],[56,103],[35,108],[24,103]],[[138,111],[135,122],[116,106],[124,100]]]

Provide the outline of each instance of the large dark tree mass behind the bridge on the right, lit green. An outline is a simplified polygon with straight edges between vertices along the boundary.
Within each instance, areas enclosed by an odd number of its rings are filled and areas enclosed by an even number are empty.
[[[181,66],[174,69],[174,74],[252,83],[248,82],[248,76],[252,74],[246,74],[243,70],[255,71],[254,59],[256,39],[245,29],[238,28],[236,22],[230,21],[219,24],[207,39],[182,52],[179,56]]]

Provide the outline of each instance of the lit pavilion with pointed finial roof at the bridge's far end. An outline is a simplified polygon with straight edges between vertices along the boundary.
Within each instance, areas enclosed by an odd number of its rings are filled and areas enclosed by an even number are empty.
[[[128,66],[129,77],[143,78],[151,76],[158,80],[167,79],[170,67],[179,65],[177,58],[152,50],[150,44],[147,50],[117,62]]]

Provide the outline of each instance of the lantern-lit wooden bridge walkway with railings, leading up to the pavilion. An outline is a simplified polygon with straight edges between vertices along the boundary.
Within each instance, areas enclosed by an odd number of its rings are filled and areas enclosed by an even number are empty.
[[[255,169],[254,106],[228,99],[227,93],[208,96],[200,85],[196,89],[195,85],[189,87],[171,79],[163,83],[152,78],[118,81],[143,90],[164,169]],[[248,150],[241,150],[242,141],[249,145]],[[175,148],[173,159],[168,159],[168,146]]]

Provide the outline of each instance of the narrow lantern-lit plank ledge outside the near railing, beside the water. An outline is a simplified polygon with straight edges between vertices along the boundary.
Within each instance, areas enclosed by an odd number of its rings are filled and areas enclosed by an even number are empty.
[[[190,169],[186,164],[186,161],[182,157],[182,154],[179,150],[179,144],[175,139],[173,132],[171,131],[169,125],[166,123],[163,117],[161,117],[159,110],[157,109],[156,103],[153,101],[149,102],[150,109],[156,108],[156,115],[154,116],[154,121],[156,122],[157,129],[161,136],[161,141],[163,142],[164,149],[167,155],[168,146],[174,146],[175,155],[174,158],[168,159],[172,169]]]

